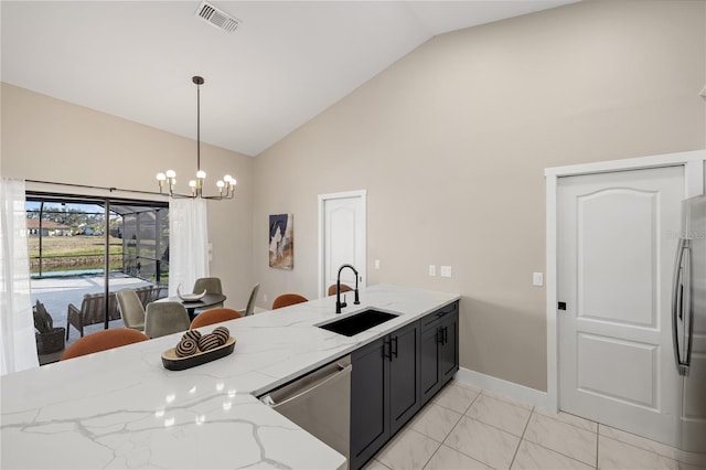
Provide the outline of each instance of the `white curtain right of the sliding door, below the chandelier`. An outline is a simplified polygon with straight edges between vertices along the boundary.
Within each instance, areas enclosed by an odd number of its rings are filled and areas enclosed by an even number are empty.
[[[208,216],[202,199],[169,203],[169,295],[191,292],[200,277],[208,277]]]

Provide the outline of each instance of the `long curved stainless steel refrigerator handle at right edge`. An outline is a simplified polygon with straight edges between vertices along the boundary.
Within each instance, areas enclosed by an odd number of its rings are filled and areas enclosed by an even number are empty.
[[[691,320],[684,319],[684,309],[689,309],[689,258],[691,255],[691,239],[680,238],[678,248],[676,252],[676,263],[674,265],[674,282],[672,290],[672,339],[674,340],[674,357],[676,360],[676,370],[680,375],[688,375],[688,363],[691,356],[691,341],[685,338],[684,331],[691,330]],[[687,327],[688,325],[688,327]],[[681,328],[680,328],[681,327]],[[686,340],[686,344],[684,341]],[[682,357],[682,349],[686,346],[684,351],[684,357]]]

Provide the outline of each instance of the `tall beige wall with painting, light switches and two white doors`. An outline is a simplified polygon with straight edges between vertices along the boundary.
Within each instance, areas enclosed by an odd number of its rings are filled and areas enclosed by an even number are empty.
[[[705,6],[581,2],[421,45],[255,159],[259,305],[315,297],[317,195],[366,189],[368,284],[460,292],[461,365],[545,391],[543,171],[706,147]],[[292,271],[267,266],[285,212]]]

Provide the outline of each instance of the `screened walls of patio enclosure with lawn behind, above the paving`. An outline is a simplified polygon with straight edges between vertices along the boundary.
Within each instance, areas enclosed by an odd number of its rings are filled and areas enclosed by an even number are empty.
[[[33,278],[118,271],[168,281],[167,203],[46,194],[26,201]]]

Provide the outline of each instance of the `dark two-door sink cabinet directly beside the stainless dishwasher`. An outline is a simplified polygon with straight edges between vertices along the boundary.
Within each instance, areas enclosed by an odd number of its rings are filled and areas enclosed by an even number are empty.
[[[419,409],[419,322],[351,354],[351,469],[361,468]]]

